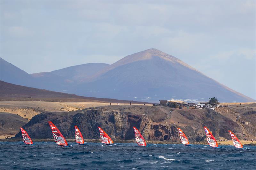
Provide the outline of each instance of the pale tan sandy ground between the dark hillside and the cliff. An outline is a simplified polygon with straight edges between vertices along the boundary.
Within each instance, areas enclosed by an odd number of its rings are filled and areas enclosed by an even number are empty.
[[[1,101],[0,112],[8,112],[20,115],[21,117],[31,119],[33,116],[47,112],[69,112],[89,107],[109,106],[110,103],[97,102],[47,102],[47,101]],[[111,103],[117,105],[117,103]],[[119,105],[129,105],[120,103]],[[132,104],[143,105],[143,104]],[[151,104],[146,104],[152,106]]]

